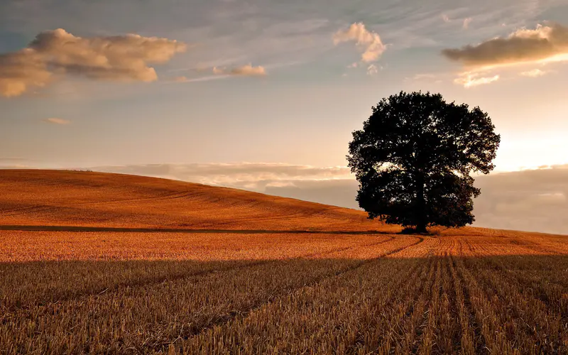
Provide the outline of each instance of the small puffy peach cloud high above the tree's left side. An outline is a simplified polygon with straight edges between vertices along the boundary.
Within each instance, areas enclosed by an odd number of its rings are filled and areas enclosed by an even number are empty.
[[[378,33],[368,31],[363,23],[352,23],[346,30],[339,30],[333,35],[334,45],[354,41],[364,50],[361,60],[375,62],[386,50]]]

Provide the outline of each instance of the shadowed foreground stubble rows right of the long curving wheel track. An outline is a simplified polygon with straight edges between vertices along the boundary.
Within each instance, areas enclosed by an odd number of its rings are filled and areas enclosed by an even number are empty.
[[[458,243],[459,244],[459,243]],[[420,245],[414,249],[424,248]],[[405,249],[410,251],[413,248]],[[369,263],[302,288],[280,302],[180,339],[186,354],[565,354],[568,276],[564,257],[436,256]],[[442,252],[443,253],[443,252]],[[525,287],[537,264],[564,266]],[[536,281],[535,281],[536,282]]]

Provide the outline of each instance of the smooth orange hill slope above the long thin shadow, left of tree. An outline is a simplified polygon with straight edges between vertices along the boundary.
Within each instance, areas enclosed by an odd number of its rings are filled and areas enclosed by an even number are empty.
[[[0,224],[398,231],[354,209],[135,175],[0,170]]]

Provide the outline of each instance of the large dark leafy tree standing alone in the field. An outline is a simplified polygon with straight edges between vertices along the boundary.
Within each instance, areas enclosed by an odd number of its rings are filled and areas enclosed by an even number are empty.
[[[488,174],[501,141],[479,107],[440,94],[400,92],[382,99],[349,143],[357,201],[388,224],[465,226],[474,222],[471,172]]]

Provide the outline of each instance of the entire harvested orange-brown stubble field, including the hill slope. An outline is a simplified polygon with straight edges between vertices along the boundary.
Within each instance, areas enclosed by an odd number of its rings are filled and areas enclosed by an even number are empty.
[[[1,354],[568,354],[568,236],[0,170]]]

